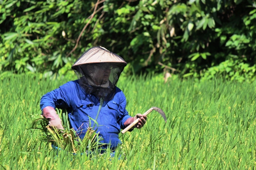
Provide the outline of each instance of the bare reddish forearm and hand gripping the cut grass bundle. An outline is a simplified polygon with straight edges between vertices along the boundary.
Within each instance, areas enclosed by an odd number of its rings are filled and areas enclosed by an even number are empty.
[[[64,127],[62,126],[62,121],[59,115],[56,114],[56,111],[53,107],[51,106],[44,107],[43,116],[49,120],[50,127],[55,127],[56,129],[64,130]]]

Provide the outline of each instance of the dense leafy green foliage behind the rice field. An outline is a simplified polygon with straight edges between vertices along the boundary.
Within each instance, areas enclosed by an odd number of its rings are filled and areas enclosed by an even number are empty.
[[[255,26],[252,0],[0,0],[0,70],[65,74],[98,45],[126,74],[251,81]]]

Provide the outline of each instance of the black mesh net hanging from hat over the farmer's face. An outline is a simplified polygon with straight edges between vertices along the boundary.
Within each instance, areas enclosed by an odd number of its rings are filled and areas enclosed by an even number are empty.
[[[88,63],[75,66],[74,71],[87,94],[109,101],[114,97],[116,83],[124,66],[114,62]]]

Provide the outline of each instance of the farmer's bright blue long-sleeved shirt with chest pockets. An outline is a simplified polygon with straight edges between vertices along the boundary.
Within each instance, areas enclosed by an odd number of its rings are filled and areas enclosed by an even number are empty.
[[[83,139],[89,126],[89,117],[96,118],[100,101],[95,96],[86,94],[78,80],[74,80],[42,96],[41,110],[46,106],[66,109],[71,127]],[[124,93],[116,87],[114,98],[108,102],[104,101],[98,115],[96,132],[103,138],[102,142],[110,143],[112,148],[121,144],[118,134],[120,128],[124,129],[124,122],[130,117],[126,111]],[[93,121],[91,122],[93,124]]]

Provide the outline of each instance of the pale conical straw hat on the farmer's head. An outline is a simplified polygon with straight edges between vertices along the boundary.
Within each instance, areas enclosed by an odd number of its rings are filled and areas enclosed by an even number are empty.
[[[126,66],[127,64],[122,57],[108,51],[104,47],[92,47],[82,54],[72,68],[89,63],[116,63],[120,64],[120,66]]]

